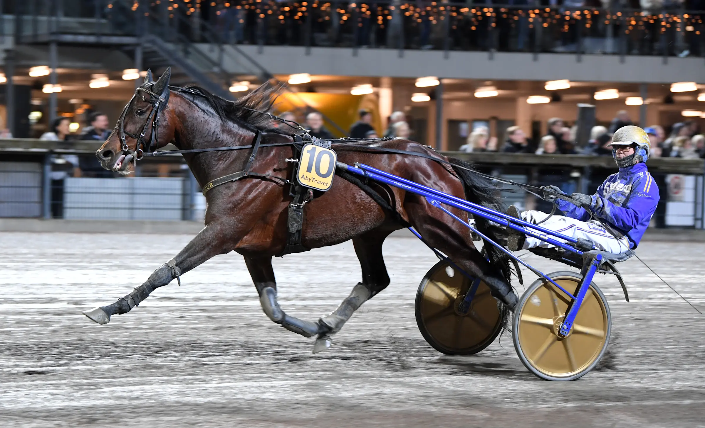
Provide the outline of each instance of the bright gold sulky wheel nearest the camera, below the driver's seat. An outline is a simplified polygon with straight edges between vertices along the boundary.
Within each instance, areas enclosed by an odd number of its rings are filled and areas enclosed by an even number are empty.
[[[571,293],[582,277],[575,272],[546,275]],[[585,294],[573,327],[558,336],[570,297],[543,278],[525,291],[515,308],[514,347],[522,363],[546,380],[575,380],[592,370],[607,349],[612,317],[607,300],[594,283]]]

